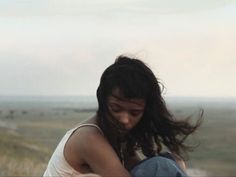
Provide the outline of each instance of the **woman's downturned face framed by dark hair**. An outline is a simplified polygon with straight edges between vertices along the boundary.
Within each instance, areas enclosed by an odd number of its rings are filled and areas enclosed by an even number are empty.
[[[107,108],[109,111],[107,118],[111,127],[123,136],[141,120],[145,109],[145,100],[127,99],[122,96],[119,89],[115,89],[107,98]]]

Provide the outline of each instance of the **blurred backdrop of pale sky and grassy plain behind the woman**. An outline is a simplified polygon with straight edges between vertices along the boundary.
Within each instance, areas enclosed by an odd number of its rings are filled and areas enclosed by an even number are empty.
[[[0,0],[0,175],[42,175],[65,131],[95,113],[104,69],[128,54],[176,117],[204,109],[191,173],[234,176],[235,19],[235,0]]]

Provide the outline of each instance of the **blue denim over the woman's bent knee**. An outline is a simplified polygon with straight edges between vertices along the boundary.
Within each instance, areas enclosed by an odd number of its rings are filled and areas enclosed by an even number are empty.
[[[142,161],[131,170],[132,177],[187,177],[175,161],[155,156]]]

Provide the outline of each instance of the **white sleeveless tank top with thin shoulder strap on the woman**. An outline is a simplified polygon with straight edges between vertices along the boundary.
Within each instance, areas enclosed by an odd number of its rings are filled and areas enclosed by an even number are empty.
[[[76,171],[65,159],[64,157],[64,147],[70,136],[80,127],[92,126],[96,127],[101,134],[103,135],[102,130],[96,124],[81,124],[73,129],[70,129],[66,132],[64,137],[61,139],[57,145],[54,153],[52,154],[51,159],[48,162],[46,171],[43,174],[43,177],[79,177],[80,172]]]

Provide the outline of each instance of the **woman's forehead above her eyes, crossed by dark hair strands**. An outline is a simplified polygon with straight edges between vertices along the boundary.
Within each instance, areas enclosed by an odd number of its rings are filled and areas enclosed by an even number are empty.
[[[141,98],[126,98],[119,91],[119,89],[114,89],[110,96],[108,96],[108,102],[114,102],[118,104],[133,104],[136,106],[144,107],[145,100]]]

